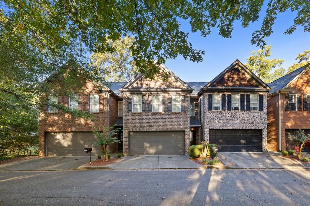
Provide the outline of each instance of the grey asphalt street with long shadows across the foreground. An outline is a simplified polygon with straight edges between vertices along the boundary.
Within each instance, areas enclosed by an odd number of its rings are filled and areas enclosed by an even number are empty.
[[[0,205],[310,205],[310,170],[0,172]]]

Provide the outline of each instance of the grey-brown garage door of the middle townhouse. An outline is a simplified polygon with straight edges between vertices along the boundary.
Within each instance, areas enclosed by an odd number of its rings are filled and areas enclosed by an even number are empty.
[[[129,154],[184,154],[184,131],[129,132]]]

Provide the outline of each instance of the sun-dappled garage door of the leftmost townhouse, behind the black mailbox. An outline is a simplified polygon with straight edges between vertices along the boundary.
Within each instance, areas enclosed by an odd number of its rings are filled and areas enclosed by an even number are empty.
[[[92,155],[101,154],[97,138],[91,132],[48,132],[46,134],[48,156],[87,155],[85,147],[92,145]]]

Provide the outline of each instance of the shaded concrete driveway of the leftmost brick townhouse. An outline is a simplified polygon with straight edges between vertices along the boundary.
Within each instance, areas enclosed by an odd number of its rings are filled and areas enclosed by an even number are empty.
[[[92,161],[95,159],[92,157]],[[89,156],[42,157],[3,164],[0,171],[75,170],[89,160]]]

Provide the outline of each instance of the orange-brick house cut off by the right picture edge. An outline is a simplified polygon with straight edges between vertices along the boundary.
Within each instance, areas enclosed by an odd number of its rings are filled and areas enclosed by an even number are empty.
[[[303,129],[310,134],[309,67],[305,65],[268,84],[272,88],[268,93],[268,150],[294,149],[288,132]]]

